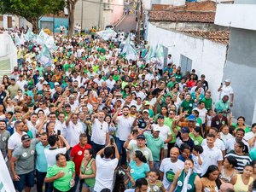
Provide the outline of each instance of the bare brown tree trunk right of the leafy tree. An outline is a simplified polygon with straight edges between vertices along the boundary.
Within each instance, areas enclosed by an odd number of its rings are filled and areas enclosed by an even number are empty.
[[[83,1],[83,0],[82,0]],[[67,11],[68,11],[68,32],[67,36],[73,36],[73,27],[74,27],[74,10],[75,5],[78,0],[67,0]]]

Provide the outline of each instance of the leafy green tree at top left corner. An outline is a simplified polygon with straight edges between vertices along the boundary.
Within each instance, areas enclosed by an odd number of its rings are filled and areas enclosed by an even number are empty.
[[[0,3],[0,13],[24,17],[38,33],[40,18],[48,14],[57,15],[64,6],[65,0],[4,0]]]

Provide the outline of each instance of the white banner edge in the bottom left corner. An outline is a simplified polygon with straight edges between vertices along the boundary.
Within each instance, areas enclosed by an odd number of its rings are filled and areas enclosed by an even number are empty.
[[[3,154],[0,151],[0,192],[14,192],[15,186],[9,175],[9,170],[3,160]]]

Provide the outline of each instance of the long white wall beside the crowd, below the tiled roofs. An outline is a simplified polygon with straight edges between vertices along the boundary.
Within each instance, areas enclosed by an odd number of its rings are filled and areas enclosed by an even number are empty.
[[[180,66],[180,55],[192,60],[196,73],[206,75],[213,101],[218,100],[218,86],[223,78],[226,57],[226,45],[207,39],[194,38],[189,35],[172,32],[153,26],[148,22],[148,43],[151,46],[163,44],[172,54],[174,63]]]

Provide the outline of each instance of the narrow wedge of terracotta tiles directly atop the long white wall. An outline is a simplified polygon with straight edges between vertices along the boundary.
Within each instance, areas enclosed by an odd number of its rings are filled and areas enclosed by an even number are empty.
[[[229,44],[230,32],[217,31],[217,32],[204,32],[204,31],[179,31],[192,36],[207,38],[214,42]]]

